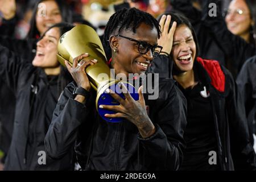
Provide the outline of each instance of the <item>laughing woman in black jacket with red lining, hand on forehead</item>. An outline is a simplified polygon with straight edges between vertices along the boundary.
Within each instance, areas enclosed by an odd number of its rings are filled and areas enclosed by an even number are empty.
[[[233,77],[217,61],[197,57],[195,31],[187,18],[167,15],[160,19],[163,32],[158,41],[165,56],[152,61],[151,71],[172,75],[187,98],[187,148],[180,169],[255,169],[255,153]],[[174,63],[172,72],[163,73],[169,61]]]

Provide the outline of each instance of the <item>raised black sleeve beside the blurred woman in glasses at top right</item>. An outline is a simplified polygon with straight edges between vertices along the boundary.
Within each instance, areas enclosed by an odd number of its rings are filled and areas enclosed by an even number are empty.
[[[228,30],[221,13],[220,0],[208,0],[206,5],[209,5],[209,3],[215,3],[217,5],[217,14],[216,16],[209,16],[210,8],[204,6],[202,22],[211,30],[218,45],[225,52],[225,55],[231,59],[234,68],[240,71],[243,63],[249,59],[249,57],[255,55],[255,47],[252,44],[246,43],[240,36],[236,36]]]

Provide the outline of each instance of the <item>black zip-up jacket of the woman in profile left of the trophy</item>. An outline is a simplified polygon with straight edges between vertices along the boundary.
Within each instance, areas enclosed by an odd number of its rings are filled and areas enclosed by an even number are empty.
[[[71,151],[61,160],[46,155],[46,164],[39,164],[43,161],[40,156],[46,154],[44,137],[59,98],[57,77],[49,81],[43,69],[25,64],[1,45],[0,63],[0,76],[16,96],[13,138],[5,170],[72,169]]]

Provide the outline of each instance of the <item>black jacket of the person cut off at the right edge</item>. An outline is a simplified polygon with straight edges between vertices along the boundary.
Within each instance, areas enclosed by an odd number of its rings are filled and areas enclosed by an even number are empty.
[[[256,56],[251,57],[243,65],[237,77],[238,91],[242,96],[242,103],[245,105],[247,122],[250,135],[256,133]],[[253,144],[253,137],[251,138]]]

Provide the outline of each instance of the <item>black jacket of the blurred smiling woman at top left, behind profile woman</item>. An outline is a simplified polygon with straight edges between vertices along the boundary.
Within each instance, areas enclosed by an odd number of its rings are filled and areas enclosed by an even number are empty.
[[[10,20],[3,19],[0,26],[0,44],[9,48],[17,56],[22,57],[22,61],[31,63],[35,56],[36,40],[15,39],[14,30],[16,23],[16,16]],[[2,78],[0,78],[0,85],[0,149],[6,155],[9,151],[11,135],[13,134],[15,94]]]

